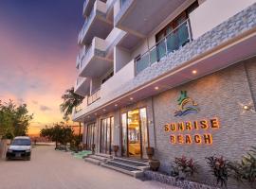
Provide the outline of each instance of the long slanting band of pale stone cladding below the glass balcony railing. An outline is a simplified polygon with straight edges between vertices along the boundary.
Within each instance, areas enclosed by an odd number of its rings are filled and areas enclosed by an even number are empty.
[[[80,117],[83,114],[92,112],[103,104],[128,93],[139,86],[143,86],[146,82],[160,77],[175,67],[182,65],[188,60],[201,55],[210,49],[229,41],[230,39],[246,32],[249,29],[256,27],[256,3],[247,9],[239,12],[233,17],[229,18],[226,22],[219,26],[214,27],[209,32],[198,38],[192,43],[186,44],[184,47],[170,53],[167,57],[163,58],[159,62],[152,64],[140,72],[133,80],[128,81],[124,85],[120,86],[115,92],[104,96],[100,100],[94,102],[82,112],[78,112],[75,117]]]

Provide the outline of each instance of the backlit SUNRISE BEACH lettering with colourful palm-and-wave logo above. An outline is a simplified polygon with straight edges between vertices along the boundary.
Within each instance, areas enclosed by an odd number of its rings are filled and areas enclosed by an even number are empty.
[[[174,112],[174,116],[184,116],[189,113],[199,112],[198,105],[188,97],[186,91],[181,91],[178,98],[179,110]],[[219,129],[218,118],[201,119],[194,121],[182,121],[165,124],[165,132],[170,133],[170,143],[172,145],[192,145],[192,144],[212,144],[211,131]]]

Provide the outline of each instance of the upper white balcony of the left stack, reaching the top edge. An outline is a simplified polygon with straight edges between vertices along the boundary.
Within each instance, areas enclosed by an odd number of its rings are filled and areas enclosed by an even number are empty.
[[[88,3],[91,1],[88,1]],[[87,7],[87,6],[85,6]],[[86,17],[79,34],[78,42],[80,44],[89,44],[94,36],[105,39],[113,28],[112,21],[108,19],[109,9],[111,7],[106,3],[96,0],[93,9]]]

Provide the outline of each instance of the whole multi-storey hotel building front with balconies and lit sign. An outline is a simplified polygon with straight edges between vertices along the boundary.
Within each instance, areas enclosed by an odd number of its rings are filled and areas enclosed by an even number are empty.
[[[86,0],[73,120],[97,154],[239,160],[256,144],[255,0]],[[109,167],[115,167],[115,163]],[[120,167],[119,167],[120,168]]]

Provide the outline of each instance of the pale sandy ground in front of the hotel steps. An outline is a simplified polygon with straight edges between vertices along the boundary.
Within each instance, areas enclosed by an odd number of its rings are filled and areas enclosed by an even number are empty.
[[[136,180],[83,160],[53,146],[37,146],[31,161],[0,161],[0,189],[176,189],[159,182]]]

